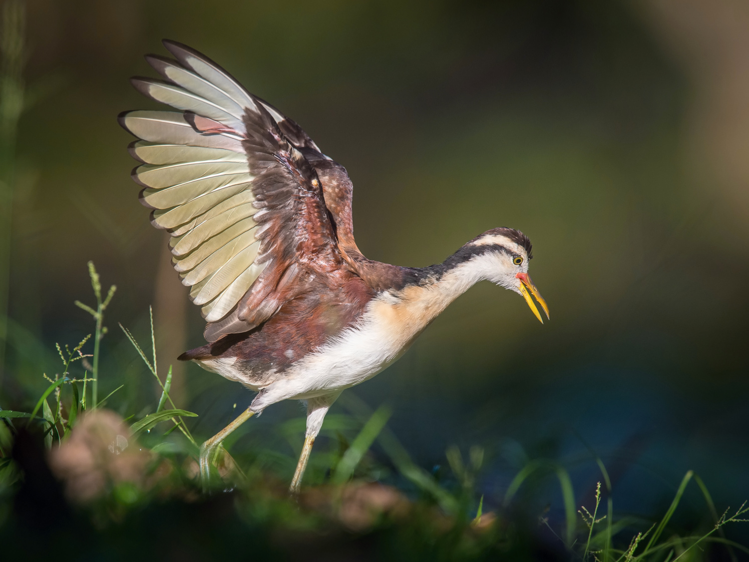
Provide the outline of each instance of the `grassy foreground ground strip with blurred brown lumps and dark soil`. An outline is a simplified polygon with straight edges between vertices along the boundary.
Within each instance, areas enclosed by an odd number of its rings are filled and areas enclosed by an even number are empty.
[[[99,312],[88,309],[98,333],[101,310],[106,306],[101,306],[100,277],[91,262],[88,270],[100,303]],[[106,304],[113,294],[109,292]],[[54,379],[43,375],[49,387],[30,413],[0,410],[0,538],[6,555],[24,553],[32,543],[38,548],[40,541],[51,552],[56,537],[75,534],[83,541],[74,558],[97,558],[125,532],[133,535],[128,546],[106,558],[127,560],[139,550],[153,551],[154,546],[168,551],[165,558],[182,558],[177,545],[184,548],[187,543],[192,543],[192,557],[203,558],[208,553],[216,555],[213,541],[231,541],[236,549],[237,527],[248,531],[240,543],[253,554],[292,559],[309,559],[310,549],[322,558],[346,552],[357,559],[364,555],[372,560],[429,561],[567,560],[569,556],[583,562],[663,561],[664,556],[667,561],[701,561],[717,553],[736,561],[736,552],[749,554],[749,549],[727,540],[724,532],[726,525],[749,522],[745,519],[749,507],[726,508],[718,515],[708,489],[693,471],[683,478],[662,519],[652,525],[646,519],[614,513],[610,474],[597,456],[591,460],[597,463],[605,487],[602,493],[598,482],[590,510],[584,505],[576,509],[578,498],[565,465],[544,458],[527,458],[507,487],[501,506],[485,510],[485,495],[477,498],[476,489],[484,464],[482,447],[471,447],[467,459],[458,447],[449,447],[446,460],[452,477],[442,477],[438,470],[430,474],[413,463],[387,429],[390,409],[380,406],[372,411],[351,391],[342,398],[350,413],[328,416],[324,422],[321,436],[333,446],[321,454],[318,445],[300,495],[290,497],[286,491],[299,444],[292,444],[291,455],[278,447],[279,439],[273,448],[242,449],[236,446],[238,431],[219,449],[217,471],[200,482],[198,446],[184,420],[197,414],[163,409],[166,402],[175,407],[169,396],[172,368],[161,384],[153,315],[152,355],[130,330],[122,330],[162,388],[153,414],[142,409],[137,416],[142,418],[128,426],[127,420],[136,414],[124,420],[101,408],[121,387],[101,402],[88,400],[90,379],[85,378],[85,371],[82,380],[70,375],[76,362],[88,357],[97,362],[98,345],[93,355],[82,351],[90,336],[72,349],[65,345],[63,351],[57,345],[62,372]],[[63,396],[66,384],[70,387],[67,399]],[[43,415],[37,418],[40,408]],[[166,431],[164,423],[169,426]],[[290,420],[279,428],[279,436],[298,435],[304,424],[304,417]],[[379,451],[372,449],[375,440]],[[544,493],[551,475],[557,477],[562,494],[563,521],[551,519],[548,507],[533,513],[535,496]],[[673,526],[672,518],[693,479],[708,509],[703,510],[697,528],[683,534]],[[523,501],[515,503],[521,488]],[[234,503],[228,510],[220,498],[227,494]],[[191,504],[197,504],[199,511],[190,510],[189,521],[177,520],[173,527],[172,513]],[[222,513],[219,524],[213,521],[214,510]],[[154,516],[165,515],[173,520],[171,525],[148,523]],[[202,526],[197,530],[202,540],[188,534],[187,528],[195,525]],[[169,532],[169,536],[150,537],[147,530]],[[628,540],[627,534],[634,536]],[[201,544],[207,537],[211,546]]]

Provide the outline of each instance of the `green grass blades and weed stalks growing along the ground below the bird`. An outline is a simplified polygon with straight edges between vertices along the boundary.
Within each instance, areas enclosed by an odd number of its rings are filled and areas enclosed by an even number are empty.
[[[128,384],[136,384],[124,375],[109,374],[124,383],[97,402],[101,348],[96,344],[106,333],[103,312],[112,300],[114,287],[102,298],[93,264],[89,264],[89,273],[97,308],[77,301],[76,305],[88,310],[94,318],[93,353],[85,353],[85,348],[91,345],[91,336],[72,348],[57,345],[60,372],[53,377],[43,375],[49,384],[33,401],[34,407],[26,412],[0,411],[0,525],[7,532],[15,529],[14,536],[22,533],[10,506],[15,495],[24,493],[28,479],[21,468],[23,463],[13,460],[13,442],[25,438],[36,440],[40,446],[43,442],[47,450],[69,450],[70,444],[76,443],[76,432],[90,431],[80,429],[88,416],[96,411],[109,411],[106,407],[118,402],[121,389],[127,391]],[[327,451],[318,447],[313,453],[306,489],[300,498],[289,498],[285,491],[295,457],[283,452],[282,447],[235,450],[240,432],[225,442],[225,451],[217,463],[219,470],[213,475],[208,492],[203,492],[196,459],[198,444],[207,435],[193,437],[189,420],[198,413],[181,408],[169,396],[171,366],[165,380],[160,378],[153,315],[150,319],[150,351],[145,351],[126,327],[121,328],[133,346],[133,353],[141,357],[145,368],[158,381],[160,398],[154,399],[150,407],[130,405],[132,415],[123,422],[129,426],[129,432],[109,444],[107,457],[115,459],[112,455],[121,453],[121,459],[131,455],[127,458],[137,456],[145,460],[128,477],[105,471],[106,482],[92,497],[71,495],[68,489],[72,508],[66,509],[76,514],[76,525],[91,525],[94,530],[91,532],[100,537],[108,537],[121,526],[135,525],[133,522],[140,521],[145,514],[164,510],[165,506],[188,506],[195,502],[213,505],[230,491],[232,504],[227,509],[232,513],[231,520],[246,528],[247,537],[255,537],[260,543],[270,541],[264,543],[270,549],[282,549],[267,538],[272,536],[318,537],[315,540],[337,537],[334,542],[369,537],[377,540],[383,553],[397,544],[395,558],[398,559],[523,560],[536,558],[537,537],[543,532],[554,537],[551,549],[556,549],[555,555],[567,560],[700,561],[709,560],[710,553],[718,550],[728,559],[737,560],[737,556],[749,553],[744,546],[727,540],[724,534],[727,525],[746,521],[749,508],[745,504],[718,513],[703,481],[688,471],[661,518],[648,522],[619,516],[614,510],[615,497],[607,470],[595,455],[590,462],[600,470],[603,484],[598,483],[594,505],[577,504],[571,477],[562,462],[530,459],[509,483],[497,507],[488,510],[488,498],[476,486],[484,465],[485,453],[481,447],[472,447],[466,459],[458,447],[446,450],[446,464],[452,475],[440,480],[416,465],[388,428],[389,408],[383,405],[372,411],[351,391],[344,393],[339,402],[347,413],[333,413],[326,420],[323,435],[330,438],[333,447]],[[82,366],[89,358],[91,376],[86,370],[79,378],[73,376],[76,366]],[[107,386],[111,387],[112,382],[108,381]],[[279,427],[279,435],[286,435],[298,450],[297,438],[303,426],[303,417],[289,420]],[[100,450],[94,453],[106,455],[105,449],[106,444],[100,444]],[[70,483],[67,477],[62,478]],[[377,482],[386,485],[373,488],[372,483]],[[559,521],[548,519],[545,513],[528,513],[524,504],[549,482],[556,482],[562,498],[564,515]],[[673,525],[673,516],[690,485],[696,485],[704,498],[704,517],[691,528]],[[519,499],[520,492],[524,492],[524,501]],[[527,505],[535,504],[530,501]],[[195,517],[199,520],[201,515]],[[253,535],[251,531],[258,529],[270,534]],[[220,536],[225,529],[210,530],[207,525],[204,532]]]

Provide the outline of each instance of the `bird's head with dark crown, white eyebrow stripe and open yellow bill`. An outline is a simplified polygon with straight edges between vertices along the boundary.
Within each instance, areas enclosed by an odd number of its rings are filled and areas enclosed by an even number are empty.
[[[528,262],[533,258],[530,240],[519,230],[500,227],[477,236],[464,246],[475,253],[476,265],[481,268],[485,279],[509,288],[524,297],[528,306],[543,324],[541,313],[533,302],[539,301],[549,318],[549,308],[539,289],[533,285],[528,275]],[[476,252],[476,250],[482,250]]]

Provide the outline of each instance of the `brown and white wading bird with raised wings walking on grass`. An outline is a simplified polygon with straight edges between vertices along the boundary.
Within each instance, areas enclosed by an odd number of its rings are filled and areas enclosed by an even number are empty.
[[[160,79],[133,86],[169,111],[122,112],[136,137],[132,178],[172,264],[201,307],[206,345],[181,354],[254,391],[200,447],[201,480],[222,441],[287,399],[306,403],[297,494],[325,414],[343,390],[398,360],[459,295],[489,280],[549,309],[528,275],[529,238],[488,230],[444,262],[407,268],[367,259],[354,241],[353,184],[291,118],[183,43],[146,55]]]

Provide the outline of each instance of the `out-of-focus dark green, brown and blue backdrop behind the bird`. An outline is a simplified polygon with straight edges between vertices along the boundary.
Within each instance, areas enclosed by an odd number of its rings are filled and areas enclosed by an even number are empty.
[[[441,262],[496,226],[533,241],[551,321],[482,283],[353,390],[392,405],[416,462],[481,444],[489,507],[529,457],[592,489],[591,449],[625,511],[660,508],[689,468],[718,507],[749,496],[749,4],[31,0],[27,34],[2,407],[28,408],[59,370],[54,343],[92,331],[73,306],[91,301],[88,260],[118,285],[99,392],[130,382],[122,414],[156,390],[116,322],[145,340],[154,305],[161,372],[203,343],[115,119],[157,107],[127,79],[155,75],[142,55],[168,37],[347,167],[369,258]],[[175,369],[196,435],[252,399]],[[300,414],[274,405],[236,447]]]

